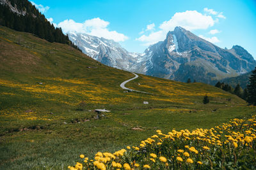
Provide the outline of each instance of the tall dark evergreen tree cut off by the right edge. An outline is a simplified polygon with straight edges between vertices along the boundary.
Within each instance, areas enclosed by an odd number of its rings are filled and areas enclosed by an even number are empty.
[[[249,104],[253,104],[254,106],[256,106],[256,67],[255,69],[252,71],[252,75],[249,78],[250,83],[249,85],[247,85],[247,89],[248,89],[248,99],[247,102]]]

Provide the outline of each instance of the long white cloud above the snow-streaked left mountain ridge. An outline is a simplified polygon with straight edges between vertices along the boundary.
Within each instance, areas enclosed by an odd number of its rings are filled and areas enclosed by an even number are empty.
[[[113,39],[114,41],[125,41],[128,39],[124,34],[116,31],[109,31],[109,22],[104,21],[100,18],[93,18],[86,20],[83,23],[75,22],[74,20],[64,20],[58,24],[62,31],[67,32],[80,32],[90,34],[92,36],[103,37],[106,39]]]

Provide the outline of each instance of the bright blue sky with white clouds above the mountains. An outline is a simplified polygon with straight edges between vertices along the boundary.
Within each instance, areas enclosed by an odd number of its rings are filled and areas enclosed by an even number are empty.
[[[114,39],[143,52],[182,26],[221,48],[241,45],[256,59],[255,0],[33,0],[64,32]]]

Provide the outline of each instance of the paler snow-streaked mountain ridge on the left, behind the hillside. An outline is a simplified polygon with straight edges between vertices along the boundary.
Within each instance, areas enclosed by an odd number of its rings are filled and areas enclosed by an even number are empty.
[[[88,34],[68,32],[68,37],[81,48],[83,53],[107,66],[129,70],[141,57],[140,53],[127,52],[119,43],[111,39]]]

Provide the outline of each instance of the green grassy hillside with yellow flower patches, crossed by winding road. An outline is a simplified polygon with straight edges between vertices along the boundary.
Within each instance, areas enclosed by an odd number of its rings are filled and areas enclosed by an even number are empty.
[[[127,87],[151,94],[124,93],[132,73],[6,27],[0,61],[0,169],[65,169],[80,153],[135,145],[156,129],[214,127],[254,109],[211,85],[141,74]],[[111,112],[97,119],[98,108]]]

